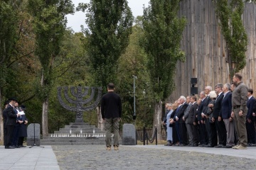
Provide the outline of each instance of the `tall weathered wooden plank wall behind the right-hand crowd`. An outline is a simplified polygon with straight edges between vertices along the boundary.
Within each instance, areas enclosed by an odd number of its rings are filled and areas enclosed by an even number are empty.
[[[198,94],[205,86],[230,83],[225,40],[220,32],[215,9],[211,0],[181,1],[180,16],[186,16],[181,49],[186,62],[176,67],[176,90],[169,97],[174,102],[179,96],[191,94],[191,78],[198,80]],[[240,71],[242,81],[256,90],[256,4],[245,4],[242,15],[247,30],[248,47],[246,67]],[[255,91],[256,94],[256,91]]]

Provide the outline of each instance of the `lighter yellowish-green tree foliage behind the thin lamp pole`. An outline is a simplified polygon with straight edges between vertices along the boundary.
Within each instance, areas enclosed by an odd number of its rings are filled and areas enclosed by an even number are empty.
[[[132,123],[134,114],[134,90],[133,75],[136,85],[136,128],[142,129],[144,126],[151,128],[153,122],[153,104],[154,97],[151,90],[149,79],[149,70],[146,67],[147,56],[139,46],[139,40],[143,36],[142,17],[138,16],[135,25],[132,28],[132,34],[129,38],[129,45],[126,52],[118,60],[117,70],[117,93],[122,97],[122,122]]]

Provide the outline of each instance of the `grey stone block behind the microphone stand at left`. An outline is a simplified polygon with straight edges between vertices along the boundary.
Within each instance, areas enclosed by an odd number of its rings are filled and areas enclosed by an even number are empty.
[[[34,143],[35,143],[36,146],[40,146],[40,124],[38,123],[29,124],[27,132],[28,132],[27,145],[34,146]]]

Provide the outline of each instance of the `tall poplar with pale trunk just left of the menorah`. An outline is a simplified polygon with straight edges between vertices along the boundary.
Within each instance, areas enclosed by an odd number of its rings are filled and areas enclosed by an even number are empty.
[[[38,94],[43,102],[42,133],[48,135],[48,99],[53,86],[53,64],[60,52],[67,20],[73,13],[71,0],[28,0],[28,9],[33,16],[36,35],[35,54],[41,62],[41,86]]]

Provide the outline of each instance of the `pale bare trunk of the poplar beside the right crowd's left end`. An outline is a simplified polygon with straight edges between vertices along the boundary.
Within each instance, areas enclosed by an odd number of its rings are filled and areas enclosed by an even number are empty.
[[[154,128],[157,128],[157,140],[162,140],[161,137],[161,112],[162,112],[162,101],[156,101],[154,111]]]

